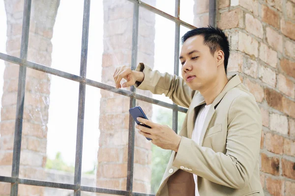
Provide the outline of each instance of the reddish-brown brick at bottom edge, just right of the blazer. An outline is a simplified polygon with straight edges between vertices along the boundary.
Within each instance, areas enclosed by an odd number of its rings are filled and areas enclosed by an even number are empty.
[[[285,184],[283,180],[266,177],[266,190],[272,196],[284,196]]]

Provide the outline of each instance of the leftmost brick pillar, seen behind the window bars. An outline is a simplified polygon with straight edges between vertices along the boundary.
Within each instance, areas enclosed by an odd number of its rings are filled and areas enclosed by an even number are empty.
[[[4,0],[9,55],[20,56],[24,0]],[[53,26],[59,0],[32,0],[28,60],[51,64]],[[5,62],[0,121],[0,173],[11,176],[19,65]],[[45,179],[50,75],[27,69],[19,177]],[[4,186],[4,187],[3,187]],[[9,188],[7,188],[9,186]],[[3,188],[3,189],[2,189]],[[9,195],[10,184],[0,184]],[[20,185],[20,196],[43,195],[44,188]]]

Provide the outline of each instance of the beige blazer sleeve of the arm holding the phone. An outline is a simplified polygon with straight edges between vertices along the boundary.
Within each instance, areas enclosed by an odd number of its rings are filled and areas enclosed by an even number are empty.
[[[259,159],[261,131],[261,112],[255,99],[238,96],[228,112],[226,154],[182,137],[173,166],[185,166],[214,183],[242,189],[249,183]]]

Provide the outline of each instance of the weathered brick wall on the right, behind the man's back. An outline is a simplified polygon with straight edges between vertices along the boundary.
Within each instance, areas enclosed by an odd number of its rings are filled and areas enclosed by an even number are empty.
[[[295,193],[295,1],[219,0],[218,26],[263,116],[261,183],[266,195]]]

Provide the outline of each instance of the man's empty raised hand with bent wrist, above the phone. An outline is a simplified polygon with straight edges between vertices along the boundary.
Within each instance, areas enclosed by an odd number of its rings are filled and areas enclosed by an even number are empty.
[[[142,82],[144,80],[144,73],[142,72],[137,72],[137,71],[132,71],[130,67],[127,66],[120,66],[115,70],[115,73],[113,74],[115,83],[116,83],[116,88],[125,88],[129,87],[135,84],[136,81]],[[122,78],[127,80],[125,83],[120,84]]]

